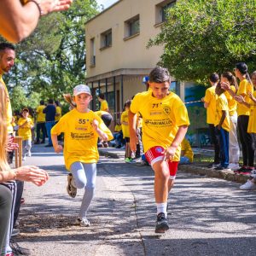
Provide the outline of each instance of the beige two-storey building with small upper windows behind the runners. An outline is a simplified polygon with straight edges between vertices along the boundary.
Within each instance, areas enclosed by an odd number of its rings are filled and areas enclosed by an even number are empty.
[[[119,119],[125,101],[146,90],[143,77],[157,65],[163,53],[162,46],[147,48],[147,44],[160,32],[166,9],[175,3],[175,0],[119,0],[85,23],[86,84],[93,92],[93,110],[99,108],[96,96],[104,93],[114,119]],[[198,97],[191,96],[190,92],[195,90],[191,83],[172,78],[170,87],[184,102],[186,93],[189,101],[199,99],[200,93]],[[197,119],[194,130],[205,126],[202,116],[205,112],[201,113],[201,106],[196,109],[189,110],[193,118],[201,117],[201,124]]]

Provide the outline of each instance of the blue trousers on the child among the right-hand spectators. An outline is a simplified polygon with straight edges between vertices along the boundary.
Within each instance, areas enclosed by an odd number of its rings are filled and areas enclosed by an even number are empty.
[[[227,168],[230,163],[229,159],[229,131],[225,131],[223,128],[218,130],[219,146],[220,146],[220,165]]]

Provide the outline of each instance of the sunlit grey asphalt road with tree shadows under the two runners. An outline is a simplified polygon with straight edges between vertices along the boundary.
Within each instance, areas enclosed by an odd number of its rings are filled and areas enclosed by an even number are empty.
[[[154,233],[150,167],[101,158],[89,228],[74,225],[83,191],[66,192],[61,154],[41,145],[24,164],[49,171],[43,187],[26,183],[20,246],[32,255],[256,255],[256,193],[239,184],[178,172],[169,198],[171,229]]]

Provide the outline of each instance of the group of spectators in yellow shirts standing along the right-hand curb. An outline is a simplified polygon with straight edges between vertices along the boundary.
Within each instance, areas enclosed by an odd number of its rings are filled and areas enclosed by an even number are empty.
[[[236,79],[240,81],[239,85]],[[214,145],[214,161],[208,167],[250,175],[240,188],[255,189],[256,72],[250,76],[246,63],[239,62],[234,74],[224,72],[219,78],[213,73],[209,81],[212,86],[202,98]]]

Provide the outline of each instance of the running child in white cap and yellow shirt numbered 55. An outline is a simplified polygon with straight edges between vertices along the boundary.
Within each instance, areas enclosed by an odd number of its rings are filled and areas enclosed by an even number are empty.
[[[90,88],[85,84],[77,85],[73,90],[76,108],[61,117],[51,129],[51,138],[56,153],[63,149],[58,144],[57,136],[64,133],[64,160],[68,171],[67,193],[75,197],[78,189],[84,189],[84,198],[76,223],[89,226],[87,210],[94,195],[96,184],[96,162],[99,160],[97,140],[108,141],[113,138],[111,131],[101,118],[88,106],[92,97]]]

